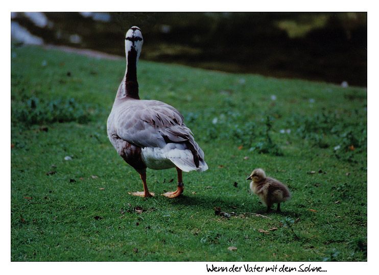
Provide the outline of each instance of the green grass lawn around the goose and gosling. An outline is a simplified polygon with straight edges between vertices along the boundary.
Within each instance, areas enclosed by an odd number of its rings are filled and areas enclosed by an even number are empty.
[[[12,261],[367,260],[365,89],[140,61],[140,97],[175,106],[209,166],[145,199],[106,135],[124,61],[11,54]],[[250,194],[257,167],[292,191],[281,213]],[[175,181],[148,170],[156,194]]]

